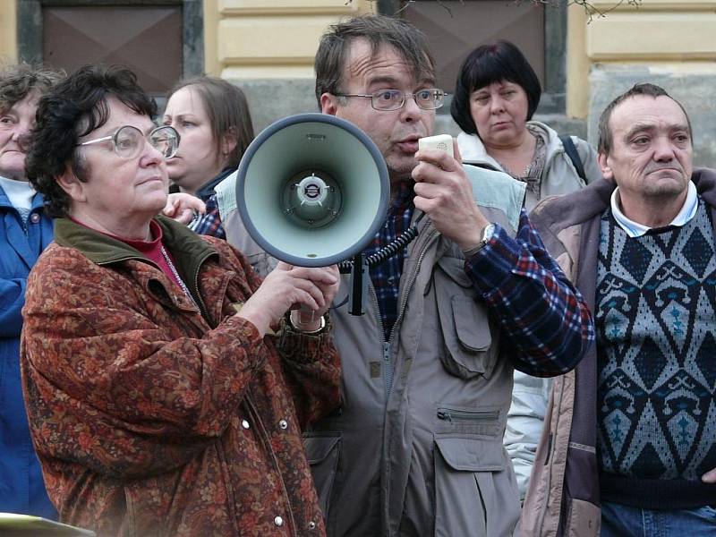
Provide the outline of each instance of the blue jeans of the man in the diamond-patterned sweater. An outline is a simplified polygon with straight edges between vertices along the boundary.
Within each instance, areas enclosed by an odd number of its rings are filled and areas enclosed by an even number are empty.
[[[707,536],[716,536],[714,507],[656,510],[601,504],[601,537]]]

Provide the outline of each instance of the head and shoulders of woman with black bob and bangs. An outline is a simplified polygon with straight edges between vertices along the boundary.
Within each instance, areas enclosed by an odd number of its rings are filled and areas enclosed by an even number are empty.
[[[450,108],[463,131],[457,136],[463,161],[527,183],[527,210],[542,198],[574,192],[601,177],[597,154],[586,141],[560,137],[533,121],[540,97],[540,81],[524,55],[512,43],[498,41],[465,58]],[[578,161],[569,157],[565,142],[576,149]]]

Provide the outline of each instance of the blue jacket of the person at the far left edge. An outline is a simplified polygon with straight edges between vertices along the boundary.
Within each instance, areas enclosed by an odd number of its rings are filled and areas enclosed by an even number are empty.
[[[30,268],[52,241],[52,219],[36,194],[23,229],[0,187],[0,512],[56,518],[30,440],[20,382],[20,331]]]

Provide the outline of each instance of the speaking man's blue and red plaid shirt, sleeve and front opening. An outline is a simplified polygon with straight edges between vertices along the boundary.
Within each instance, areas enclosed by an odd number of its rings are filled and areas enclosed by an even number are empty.
[[[371,255],[410,226],[413,183],[401,183],[386,222],[365,251]],[[395,325],[407,249],[370,270],[386,341]],[[495,226],[490,242],[465,260],[465,273],[499,320],[502,345],[516,369],[536,376],[575,367],[594,340],[592,314],[582,295],[545,251],[522,210],[515,238]]]

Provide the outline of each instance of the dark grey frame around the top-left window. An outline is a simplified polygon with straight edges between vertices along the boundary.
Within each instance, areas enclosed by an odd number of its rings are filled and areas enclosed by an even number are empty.
[[[182,6],[183,77],[204,73],[204,13],[201,0],[21,0],[18,2],[18,55],[42,63],[42,8],[44,6]]]

